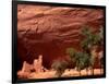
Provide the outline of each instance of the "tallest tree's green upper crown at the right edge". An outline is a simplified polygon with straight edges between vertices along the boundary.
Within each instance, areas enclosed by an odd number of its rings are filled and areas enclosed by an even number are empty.
[[[104,38],[102,27],[99,29],[99,33],[92,33],[88,26],[83,27],[82,35],[85,36],[85,39],[81,43],[81,46],[84,50],[89,50],[94,45],[101,44]]]

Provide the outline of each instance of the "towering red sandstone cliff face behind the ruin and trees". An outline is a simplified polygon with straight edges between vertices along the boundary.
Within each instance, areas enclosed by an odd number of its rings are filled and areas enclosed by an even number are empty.
[[[56,59],[66,59],[65,49],[80,48],[82,26],[96,32],[104,25],[100,9],[17,5],[17,52],[22,63],[33,62],[43,55],[44,65],[50,68]]]

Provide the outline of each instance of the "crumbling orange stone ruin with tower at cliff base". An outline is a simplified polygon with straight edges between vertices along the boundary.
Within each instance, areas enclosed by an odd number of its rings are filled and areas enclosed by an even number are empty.
[[[31,77],[32,73],[39,73],[48,71],[43,65],[43,56],[40,55],[38,59],[35,59],[33,64],[27,63],[26,61],[23,62],[23,68],[17,72],[17,76],[20,79],[28,79]]]

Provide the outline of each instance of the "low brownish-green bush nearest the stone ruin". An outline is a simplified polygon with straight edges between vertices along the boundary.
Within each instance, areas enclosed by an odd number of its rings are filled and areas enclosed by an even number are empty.
[[[55,69],[57,72],[56,72],[56,75],[58,77],[60,77],[62,75],[62,73],[64,72],[64,70],[66,69],[68,67],[68,62],[66,61],[55,61],[51,65],[52,69]]]

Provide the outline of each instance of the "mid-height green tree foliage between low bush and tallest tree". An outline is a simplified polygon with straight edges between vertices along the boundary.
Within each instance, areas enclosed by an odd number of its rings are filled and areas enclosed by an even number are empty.
[[[78,71],[90,65],[89,53],[75,51],[73,48],[68,48],[66,53],[70,56],[72,63],[75,63],[75,67]]]

